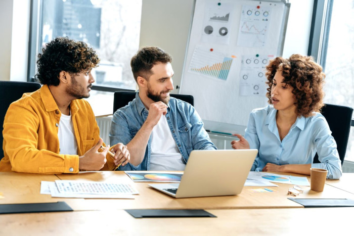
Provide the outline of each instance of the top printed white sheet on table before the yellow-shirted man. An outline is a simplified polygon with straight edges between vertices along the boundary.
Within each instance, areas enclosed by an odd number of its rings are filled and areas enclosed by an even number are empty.
[[[55,180],[60,193],[73,194],[139,194],[129,183]]]

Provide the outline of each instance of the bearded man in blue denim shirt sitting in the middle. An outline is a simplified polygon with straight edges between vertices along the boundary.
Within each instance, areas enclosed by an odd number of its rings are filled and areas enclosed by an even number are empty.
[[[130,161],[119,170],[184,170],[192,150],[216,147],[194,107],[170,98],[171,57],[146,47],[131,58],[136,98],[112,119],[110,142],[126,144]]]

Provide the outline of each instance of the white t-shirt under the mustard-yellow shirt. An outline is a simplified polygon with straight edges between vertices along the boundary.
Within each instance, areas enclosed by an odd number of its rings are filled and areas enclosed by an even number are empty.
[[[77,155],[77,142],[71,115],[61,115],[58,126],[60,154]]]

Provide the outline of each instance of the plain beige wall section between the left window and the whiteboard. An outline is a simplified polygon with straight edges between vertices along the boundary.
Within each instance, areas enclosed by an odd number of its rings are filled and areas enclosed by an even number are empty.
[[[181,84],[194,0],[143,0],[140,47],[158,46],[172,56],[174,90]]]

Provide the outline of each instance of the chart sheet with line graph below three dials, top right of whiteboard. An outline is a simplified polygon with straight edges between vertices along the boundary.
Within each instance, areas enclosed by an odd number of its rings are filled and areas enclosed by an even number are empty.
[[[267,43],[270,17],[270,8],[243,5],[237,45],[264,48]]]

